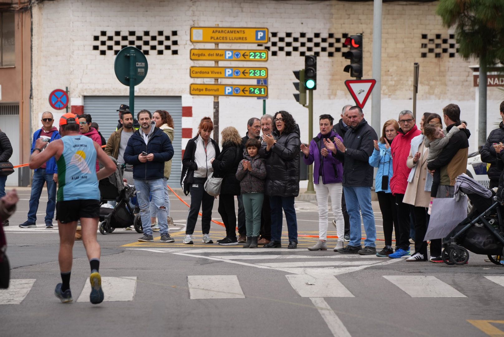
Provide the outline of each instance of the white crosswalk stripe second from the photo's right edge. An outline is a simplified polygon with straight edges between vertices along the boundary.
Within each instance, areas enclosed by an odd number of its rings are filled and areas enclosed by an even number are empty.
[[[383,276],[411,297],[467,297],[435,276]]]

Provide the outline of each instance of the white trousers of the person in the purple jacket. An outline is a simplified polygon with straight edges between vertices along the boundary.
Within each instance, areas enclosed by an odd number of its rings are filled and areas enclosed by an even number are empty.
[[[341,211],[341,196],[343,186],[341,183],[323,184],[322,177],[319,177],[319,184],[313,184],[317,195],[317,204],[319,205],[319,239],[327,240],[327,226],[329,223],[329,196],[333,206],[333,215],[336,220],[336,233],[338,241],[343,241],[345,235],[345,220]]]

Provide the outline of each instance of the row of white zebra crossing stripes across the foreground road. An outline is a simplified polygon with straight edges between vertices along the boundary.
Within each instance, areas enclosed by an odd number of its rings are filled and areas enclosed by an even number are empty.
[[[352,293],[333,275],[316,277],[307,274],[287,274],[285,277],[295,293],[302,298],[359,297],[359,294]],[[486,278],[493,284],[504,287],[504,276],[486,275],[481,277]],[[441,276],[384,275],[383,278],[388,281],[386,287],[399,288],[411,298],[468,299],[471,296],[469,293],[461,293],[456,289],[456,286],[444,282]],[[142,285],[137,281],[137,276],[102,277],[102,288],[105,294],[104,302],[135,301],[137,288]],[[247,294],[243,291],[241,285],[247,280],[241,279],[239,275],[188,275],[186,281],[188,300],[245,299],[256,295]],[[488,287],[491,286],[492,284],[488,284]],[[146,283],[142,287],[151,286]],[[12,279],[9,289],[0,290],[0,305],[22,304],[31,293],[38,291],[36,279]],[[88,278],[76,302],[89,302],[90,292],[91,287]],[[401,292],[396,294],[398,297],[403,296]],[[54,298],[54,301],[57,300]]]

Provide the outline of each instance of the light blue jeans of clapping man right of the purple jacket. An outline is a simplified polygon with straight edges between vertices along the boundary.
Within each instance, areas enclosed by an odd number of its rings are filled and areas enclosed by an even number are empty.
[[[343,187],[347,212],[350,217],[350,245],[360,246],[362,229],[360,226],[360,213],[366,231],[365,247],[376,247],[376,229],[374,227],[374,214],[371,206],[371,188],[365,186]],[[360,205],[360,212],[359,212]]]

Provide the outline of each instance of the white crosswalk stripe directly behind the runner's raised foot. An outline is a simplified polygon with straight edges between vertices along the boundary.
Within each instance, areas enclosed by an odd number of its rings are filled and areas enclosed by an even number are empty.
[[[133,301],[137,290],[137,276],[102,277],[103,302]],[[84,289],[77,302],[89,302],[91,284],[89,277],[86,279]]]

